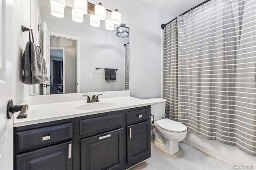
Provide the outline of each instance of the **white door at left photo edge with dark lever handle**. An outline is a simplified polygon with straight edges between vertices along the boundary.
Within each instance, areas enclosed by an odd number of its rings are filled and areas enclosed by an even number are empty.
[[[12,1],[0,0],[0,170],[13,169],[13,118],[6,116],[12,99],[12,10]]]

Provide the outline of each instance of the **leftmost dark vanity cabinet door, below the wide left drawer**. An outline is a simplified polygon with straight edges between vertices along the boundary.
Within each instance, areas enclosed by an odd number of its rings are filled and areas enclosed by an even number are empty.
[[[17,170],[72,170],[72,142],[16,156]]]

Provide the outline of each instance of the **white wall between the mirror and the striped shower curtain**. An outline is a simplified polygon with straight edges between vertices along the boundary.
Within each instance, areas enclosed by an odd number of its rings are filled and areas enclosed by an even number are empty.
[[[130,95],[160,97],[161,24],[173,17],[138,0],[108,0],[103,5],[117,8],[130,26]]]

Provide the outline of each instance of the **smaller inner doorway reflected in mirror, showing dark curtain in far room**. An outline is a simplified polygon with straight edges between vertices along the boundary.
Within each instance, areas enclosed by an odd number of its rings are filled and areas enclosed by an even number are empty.
[[[65,48],[50,47],[50,94],[65,93]]]

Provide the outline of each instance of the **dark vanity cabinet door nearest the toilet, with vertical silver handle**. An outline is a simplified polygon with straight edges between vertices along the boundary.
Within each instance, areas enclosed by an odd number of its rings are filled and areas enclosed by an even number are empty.
[[[150,157],[150,121],[127,127],[127,163],[136,164]]]

